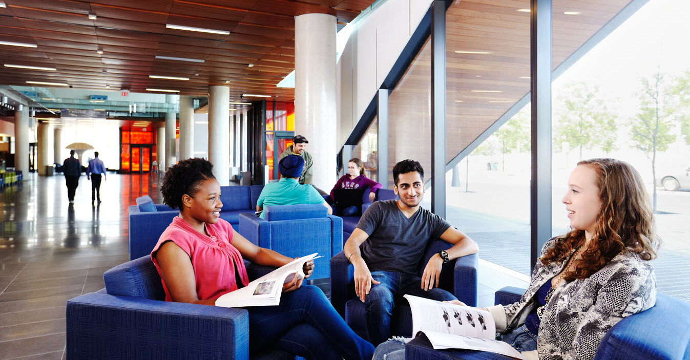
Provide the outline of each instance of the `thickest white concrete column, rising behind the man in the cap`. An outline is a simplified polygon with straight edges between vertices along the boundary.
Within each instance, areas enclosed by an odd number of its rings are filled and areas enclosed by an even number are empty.
[[[306,137],[313,185],[322,190],[336,181],[335,17],[295,17],[295,135]]]

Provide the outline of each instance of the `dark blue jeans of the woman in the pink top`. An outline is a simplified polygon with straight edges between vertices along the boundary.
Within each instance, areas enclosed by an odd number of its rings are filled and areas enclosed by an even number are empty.
[[[371,359],[374,347],[335,311],[316,286],[303,285],[282,294],[278,306],[249,311],[249,351],[270,348],[306,359]]]

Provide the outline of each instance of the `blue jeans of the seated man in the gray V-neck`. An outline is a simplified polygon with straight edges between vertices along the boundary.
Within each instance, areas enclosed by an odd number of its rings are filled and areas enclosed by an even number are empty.
[[[422,290],[422,278],[416,275],[378,270],[371,272],[371,277],[380,281],[371,286],[364,301],[366,333],[374,346],[391,337],[391,316],[396,295],[411,294],[437,301],[457,300],[453,294],[441,288]]]

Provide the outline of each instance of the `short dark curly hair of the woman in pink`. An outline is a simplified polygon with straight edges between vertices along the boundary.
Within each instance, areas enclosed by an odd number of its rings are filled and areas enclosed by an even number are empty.
[[[182,160],[172,166],[166,171],[161,186],[163,203],[173,209],[181,208],[182,195],[194,197],[199,191],[201,181],[215,179],[212,168],[212,163],[199,157]]]

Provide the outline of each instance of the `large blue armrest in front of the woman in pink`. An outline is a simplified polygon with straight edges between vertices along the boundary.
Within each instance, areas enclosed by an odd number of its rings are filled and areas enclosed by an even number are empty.
[[[67,359],[249,357],[244,309],[90,293],[66,317]]]

